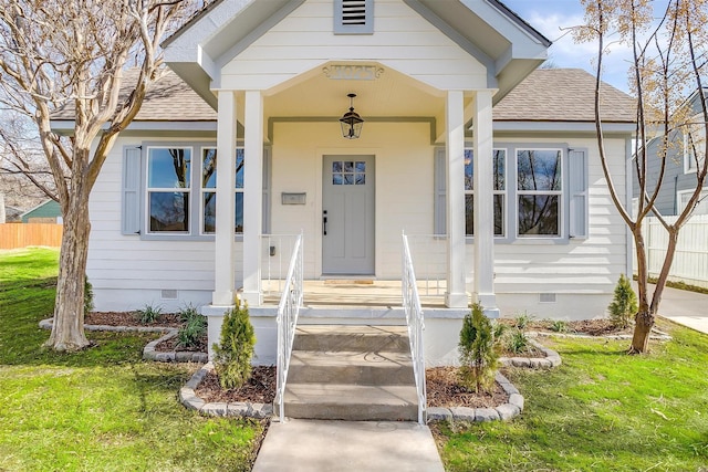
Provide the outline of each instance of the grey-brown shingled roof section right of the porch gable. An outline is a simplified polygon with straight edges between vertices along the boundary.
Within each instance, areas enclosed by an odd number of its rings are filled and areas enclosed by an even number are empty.
[[[634,123],[636,101],[603,83],[601,117]],[[595,77],[582,69],[540,69],[531,73],[493,109],[494,122],[594,122]]]

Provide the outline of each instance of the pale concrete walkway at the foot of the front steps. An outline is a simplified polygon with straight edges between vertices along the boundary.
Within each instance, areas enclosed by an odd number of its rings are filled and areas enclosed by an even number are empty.
[[[444,472],[428,427],[408,421],[271,422],[253,472]]]

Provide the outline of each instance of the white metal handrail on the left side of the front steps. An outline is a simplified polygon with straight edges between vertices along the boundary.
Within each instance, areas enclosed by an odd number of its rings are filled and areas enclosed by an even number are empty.
[[[290,367],[295,327],[298,326],[298,315],[302,306],[302,273],[303,252],[302,234],[300,234],[295,240],[283,294],[278,305],[278,386],[275,401],[279,407],[280,422],[285,420],[285,382],[288,380],[288,368]]]

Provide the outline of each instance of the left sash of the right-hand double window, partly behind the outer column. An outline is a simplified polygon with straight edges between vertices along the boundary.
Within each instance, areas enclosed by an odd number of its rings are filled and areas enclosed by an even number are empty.
[[[465,149],[465,234],[475,234],[475,183],[472,167],[472,150]],[[493,185],[493,206],[494,206],[494,235],[503,237],[506,228],[506,167],[507,150],[494,149],[494,185]]]

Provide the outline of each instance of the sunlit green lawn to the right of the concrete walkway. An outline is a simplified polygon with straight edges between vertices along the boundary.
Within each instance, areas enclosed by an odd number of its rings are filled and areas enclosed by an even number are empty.
[[[448,471],[708,471],[708,336],[627,356],[628,342],[558,339],[563,365],[512,369],[525,398],[507,423],[440,424]]]

